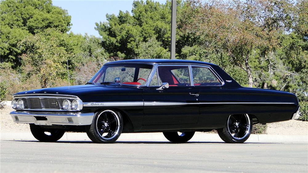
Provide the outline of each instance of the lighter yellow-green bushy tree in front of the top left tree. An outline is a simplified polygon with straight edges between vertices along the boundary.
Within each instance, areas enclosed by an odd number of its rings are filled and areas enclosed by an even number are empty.
[[[47,29],[30,35],[19,44],[26,49],[26,53],[22,54],[25,72],[35,75],[43,88],[51,86],[57,77],[65,78],[70,57],[65,48],[59,46],[61,41],[50,35],[53,32],[55,30]]]

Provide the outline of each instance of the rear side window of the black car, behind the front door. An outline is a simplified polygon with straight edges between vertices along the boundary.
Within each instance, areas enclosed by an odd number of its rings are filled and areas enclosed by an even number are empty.
[[[206,67],[192,67],[194,86],[220,86],[221,82]]]

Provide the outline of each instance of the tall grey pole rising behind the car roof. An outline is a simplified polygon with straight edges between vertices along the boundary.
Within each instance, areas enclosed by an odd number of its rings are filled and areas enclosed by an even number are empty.
[[[175,59],[175,31],[176,31],[176,0],[171,1],[171,44],[170,59]]]

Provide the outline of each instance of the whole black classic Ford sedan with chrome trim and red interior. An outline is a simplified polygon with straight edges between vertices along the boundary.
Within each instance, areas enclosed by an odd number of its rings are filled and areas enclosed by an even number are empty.
[[[242,87],[211,63],[167,59],[108,62],[85,85],[19,92],[12,108],[14,122],[29,123],[39,141],[78,131],[95,143],[131,132],[163,132],[184,143],[213,129],[226,143],[243,143],[253,124],[294,119],[299,111],[294,94]]]

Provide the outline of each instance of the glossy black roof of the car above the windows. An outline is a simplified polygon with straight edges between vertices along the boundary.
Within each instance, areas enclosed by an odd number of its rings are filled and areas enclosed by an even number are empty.
[[[120,61],[113,61],[109,63],[120,63],[120,62],[134,62],[134,63],[157,63],[157,64],[202,64],[202,65],[215,65],[209,62],[202,62],[202,61],[193,61],[193,60],[183,60],[183,59],[128,59],[128,60],[120,60]],[[215,65],[216,66],[216,65]]]

